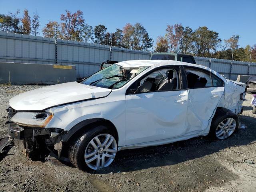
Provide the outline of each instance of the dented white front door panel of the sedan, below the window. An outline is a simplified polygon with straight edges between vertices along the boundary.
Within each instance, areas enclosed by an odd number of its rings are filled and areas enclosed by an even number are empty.
[[[186,134],[188,91],[126,95],[126,145]]]

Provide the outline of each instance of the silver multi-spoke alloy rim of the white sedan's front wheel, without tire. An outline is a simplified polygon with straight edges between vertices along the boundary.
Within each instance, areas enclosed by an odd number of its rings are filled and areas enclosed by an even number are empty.
[[[100,134],[87,145],[84,160],[88,167],[98,170],[109,166],[114,161],[116,152],[115,138],[110,134]]]

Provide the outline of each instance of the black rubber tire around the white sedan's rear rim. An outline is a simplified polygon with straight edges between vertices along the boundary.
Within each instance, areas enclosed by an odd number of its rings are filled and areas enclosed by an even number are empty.
[[[233,118],[234,120],[236,120],[235,131],[237,130],[237,128],[239,126],[238,115],[235,114],[234,112],[228,110],[228,109],[218,108],[216,110],[216,113],[215,113],[214,117],[212,118],[212,124],[211,124],[211,127],[210,127],[210,132],[208,134],[208,136],[210,138],[219,140],[219,138],[217,138],[217,136],[216,136],[216,129],[217,129],[218,125],[220,124],[220,122],[222,122],[223,120],[225,120],[227,118]]]

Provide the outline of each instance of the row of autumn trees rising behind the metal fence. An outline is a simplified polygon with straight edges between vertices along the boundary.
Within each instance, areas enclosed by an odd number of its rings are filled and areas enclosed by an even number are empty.
[[[32,20],[27,9],[23,11],[21,18],[18,16],[19,13],[20,10],[6,15],[0,14],[0,30],[38,35],[40,30],[38,13],[33,14]],[[65,13],[60,15],[60,22],[51,20],[42,26],[42,34],[48,38],[93,42],[136,50],[180,52],[202,57],[256,62],[256,44],[247,45],[245,48],[239,47],[239,35],[232,35],[222,40],[217,32],[206,26],[192,30],[182,24],[168,24],[165,34],[157,37],[153,49],[153,39],[139,22],[126,23],[122,28],[109,32],[103,24],[94,27],[86,24],[82,10],[73,13],[65,10]]]

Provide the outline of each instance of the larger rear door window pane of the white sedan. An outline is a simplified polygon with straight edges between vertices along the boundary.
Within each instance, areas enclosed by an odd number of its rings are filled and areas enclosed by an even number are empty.
[[[194,68],[185,68],[185,71],[188,81],[188,88],[204,88],[212,86],[210,72],[197,70]]]

